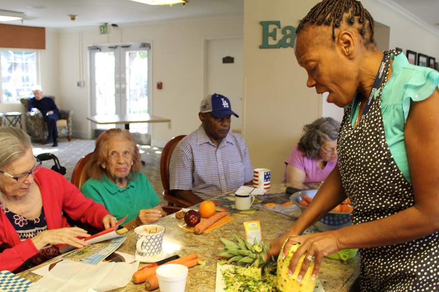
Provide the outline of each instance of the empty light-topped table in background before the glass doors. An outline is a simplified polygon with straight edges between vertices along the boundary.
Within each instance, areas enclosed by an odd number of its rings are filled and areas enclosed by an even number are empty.
[[[169,123],[170,119],[153,116],[150,114],[130,114],[130,115],[95,115],[87,117],[93,123],[105,124],[125,124],[125,129],[130,129],[132,123]]]

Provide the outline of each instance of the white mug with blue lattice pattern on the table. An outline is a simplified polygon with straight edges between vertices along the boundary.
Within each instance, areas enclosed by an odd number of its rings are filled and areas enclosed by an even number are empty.
[[[155,256],[162,252],[164,227],[160,225],[141,225],[134,229],[136,250],[141,256]]]

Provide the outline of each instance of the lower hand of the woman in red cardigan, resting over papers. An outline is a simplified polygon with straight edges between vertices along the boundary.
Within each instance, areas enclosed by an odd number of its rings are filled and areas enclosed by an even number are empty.
[[[32,238],[35,247],[40,250],[46,245],[68,244],[77,248],[88,245],[83,239],[78,237],[89,237],[86,230],[79,227],[68,227],[45,230]]]

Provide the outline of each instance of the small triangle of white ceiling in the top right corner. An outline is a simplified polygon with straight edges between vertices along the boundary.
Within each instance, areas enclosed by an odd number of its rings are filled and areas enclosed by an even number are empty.
[[[418,16],[439,31],[439,0],[393,0],[396,4]]]

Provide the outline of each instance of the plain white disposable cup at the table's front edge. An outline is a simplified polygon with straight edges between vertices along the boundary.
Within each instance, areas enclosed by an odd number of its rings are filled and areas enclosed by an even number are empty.
[[[184,292],[188,269],[178,263],[168,263],[156,270],[160,292]]]

